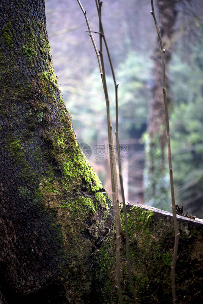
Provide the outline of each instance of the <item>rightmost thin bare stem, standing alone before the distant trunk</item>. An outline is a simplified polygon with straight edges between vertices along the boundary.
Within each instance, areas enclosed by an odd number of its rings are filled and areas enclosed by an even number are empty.
[[[176,218],[176,207],[175,207],[175,195],[174,195],[174,182],[173,182],[173,170],[172,170],[172,161],[171,161],[171,150],[170,150],[170,130],[169,130],[169,118],[168,118],[168,108],[167,108],[167,97],[166,97],[166,74],[165,74],[165,49],[163,48],[163,43],[161,39],[160,29],[157,23],[157,18],[154,13],[154,5],[153,0],[151,0],[152,11],[151,14],[153,16],[157,34],[161,47],[161,59],[162,59],[162,81],[163,81],[163,101],[165,108],[165,116],[166,116],[166,132],[167,132],[167,144],[168,144],[168,162],[169,162],[169,174],[170,174],[170,189],[171,189],[171,201],[172,201],[172,211],[173,211],[173,220],[174,220],[174,230],[175,230],[175,240],[174,240],[174,252],[173,252],[173,260],[171,266],[171,285],[172,285],[172,297],[173,303],[176,303],[176,286],[175,286],[175,266],[177,260],[177,250],[178,250],[178,239],[179,239],[179,231],[178,231],[178,223]]]

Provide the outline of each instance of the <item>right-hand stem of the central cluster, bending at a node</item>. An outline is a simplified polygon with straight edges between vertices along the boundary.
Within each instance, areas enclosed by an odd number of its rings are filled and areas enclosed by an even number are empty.
[[[127,259],[126,262],[127,262],[129,281],[130,281],[130,286],[131,286],[131,291],[132,291],[132,295],[133,295],[133,298],[134,298],[134,302],[138,303],[135,288],[134,288],[134,285],[133,285],[132,273],[131,273],[131,267],[130,267],[128,222],[127,222],[126,203],[125,203],[125,195],[124,195],[124,187],[123,187],[123,179],[122,179],[122,168],[121,168],[121,160],[120,160],[120,147],[119,147],[119,136],[118,136],[118,86],[119,85],[116,83],[115,73],[114,73],[114,69],[113,69],[113,65],[112,65],[112,60],[111,60],[111,56],[110,56],[110,53],[109,53],[109,50],[108,50],[108,45],[107,45],[107,42],[106,42],[106,39],[105,39],[104,30],[103,30],[103,26],[102,26],[102,21],[101,21],[101,5],[102,5],[102,2],[100,2],[100,0],[98,0],[98,3],[97,3],[97,0],[95,0],[95,2],[96,2],[97,12],[98,12],[98,16],[99,16],[99,32],[101,32],[101,34],[100,34],[100,51],[102,53],[101,38],[103,38],[104,43],[105,43],[105,47],[106,47],[106,51],[107,51],[107,54],[108,54],[108,60],[109,60],[110,66],[111,66],[114,85],[115,85],[115,106],[116,106],[115,136],[116,136],[116,143],[117,143],[117,150],[118,150],[119,179],[120,179],[120,186],[121,186],[121,192],[122,192],[123,212],[124,212],[124,218],[125,218],[126,259]],[[102,60],[103,60],[103,56],[102,56]],[[119,210],[118,210],[118,212],[119,212]]]

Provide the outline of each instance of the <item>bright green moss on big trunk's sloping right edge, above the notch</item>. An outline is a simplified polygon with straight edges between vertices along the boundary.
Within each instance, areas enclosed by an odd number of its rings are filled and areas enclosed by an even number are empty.
[[[50,149],[47,152],[49,157],[63,168],[64,189],[81,189],[82,187],[90,192],[99,191],[102,188],[101,181],[80,150],[70,116],[65,112],[60,119],[63,127],[50,130],[45,134],[45,138],[50,143]],[[101,197],[98,200],[101,200]],[[104,198],[102,200],[104,201]]]

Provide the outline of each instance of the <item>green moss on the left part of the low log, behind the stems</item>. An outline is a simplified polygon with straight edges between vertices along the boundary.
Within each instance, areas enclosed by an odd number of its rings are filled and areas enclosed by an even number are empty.
[[[121,210],[121,221],[124,228],[124,214]],[[164,265],[169,263],[170,254],[162,253],[162,246],[157,250],[157,262],[154,260],[154,251],[151,248],[156,248],[157,239],[153,235],[154,229],[154,213],[150,210],[140,208],[138,206],[132,207],[128,212],[128,229],[129,229],[129,253],[131,258],[131,269],[133,275],[133,281],[136,288],[136,294],[139,298],[140,303],[146,298],[146,295],[150,293],[149,282],[150,279],[154,279],[153,274],[151,274],[150,269],[153,266],[151,261],[156,264],[158,261],[164,259]],[[111,244],[111,247],[109,246]],[[125,242],[121,242],[121,257],[126,257],[126,247]],[[112,247],[113,245],[113,247]],[[157,244],[158,246],[158,244]],[[108,238],[105,240],[104,245],[100,249],[99,253],[101,273],[100,278],[102,281],[102,291],[101,291],[101,303],[116,303],[118,301],[118,296],[115,293],[115,231],[112,230],[109,233]],[[170,267],[167,266],[170,272]],[[128,273],[126,271],[126,261],[121,259],[120,264],[121,269],[121,282],[122,282],[122,293],[123,295],[128,295],[132,298],[132,293],[129,285]],[[160,267],[160,272],[162,269]],[[168,278],[168,273],[165,270]],[[170,273],[169,273],[170,275]],[[151,277],[150,277],[151,276]],[[104,281],[107,282],[104,283]],[[151,292],[152,294],[153,292]],[[148,299],[148,298],[146,298]],[[124,298],[124,303],[128,303],[127,299]],[[157,302],[155,302],[157,303]]]

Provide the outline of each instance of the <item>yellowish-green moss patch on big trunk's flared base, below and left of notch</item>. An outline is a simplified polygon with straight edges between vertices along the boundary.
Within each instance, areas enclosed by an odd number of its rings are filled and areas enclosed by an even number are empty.
[[[49,180],[43,179],[41,181],[38,191],[41,192],[42,196],[39,196],[39,199],[41,201],[43,198],[44,207],[48,212],[55,210],[58,213],[57,219],[61,224],[65,246],[69,247],[67,234],[71,231],[75,235],[76,231],[80,234],[81,231],[88,230],[91,236],[96,237],[98,230],[103,226],[103,220],[98,222],[98,212],[101,212],[101,206],[97,205],[94,196],[91,198],[82,195],[80,185],[74,187],[70,181],[60,181],[59,183],[52,173],[49,172]],[[105,213],[105,210],[102,212]],[[64,221],[64,219],[66,220]],[[87,219],[91,219],[91,225],[85,224]]]

